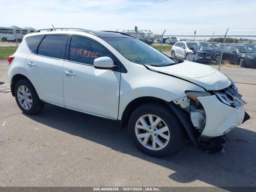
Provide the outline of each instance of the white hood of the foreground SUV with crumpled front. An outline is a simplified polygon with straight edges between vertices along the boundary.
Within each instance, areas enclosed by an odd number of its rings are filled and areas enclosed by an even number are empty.
[[[220,73],[218,70],[207,65],[186,60],[182,63],[166,67],[149,65],[147,65],[147,67],[158,72],[188,80],[202,86],[206,90],[221,90],[227,88],[231,84],[228,77]]]

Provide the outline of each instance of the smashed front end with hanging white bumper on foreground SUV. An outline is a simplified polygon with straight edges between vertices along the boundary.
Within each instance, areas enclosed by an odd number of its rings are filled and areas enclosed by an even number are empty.
[[[231,84],[219,91],[186,91],[187,96],[173,103],[186,111],[192,122],[192,136],[198,148],[209,153],[223,152],[225,134],[248,120],[242,96]],[[187,129],[186,129],[187,130]],[[192,137],[190,134],[190,138]]]

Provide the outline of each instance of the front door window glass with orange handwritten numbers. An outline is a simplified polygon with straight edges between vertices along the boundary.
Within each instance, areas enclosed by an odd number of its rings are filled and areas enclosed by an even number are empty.
[[[94,41],[73,36],[70,42],[69,60],[93,65],[94,59],[98,57],[112,57],[111,53]]]

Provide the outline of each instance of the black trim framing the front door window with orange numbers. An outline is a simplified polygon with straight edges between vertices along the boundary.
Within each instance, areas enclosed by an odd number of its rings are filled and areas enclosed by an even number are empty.
[[[108,48],[106,48],[106,47],[105,47],[104,45],[102,45],[100,42],[98,42],[98,41],[96,41],[96,40],[94,40],[94,39],[92,39],[92,38],[90,38],[90,37],[82,36],[82,35],[77,35],[77,34],[70,34],[70,36],[69,36],[69,38],[68,38],[68,44],[67,44],[67,47],[66,47],[66,59],[65,59],[65,61],[94,67],[93,65],[90,65],[90,64],[80,63],[80,62],[70,61],[70,60],[69,60],[70,43],[71,43],[71,39],[72,39],[73,36],[86,38],[86,39],[91,40],[92,42],[98,44],[98,45],[101,46],[102,48],[106,49],[106,50],[107,50],[108,52],[110,52],[110,54],[115,58],[114,64],[116,64],[116,70],[114,70],[114,71],[116,71],[116,72],[122,72],[122,73],[126,73],[126,72],[127,72],[126,68],[124,68],[124,66],[123,66],[123,64],[120,62],[120,60],[119,60]]]

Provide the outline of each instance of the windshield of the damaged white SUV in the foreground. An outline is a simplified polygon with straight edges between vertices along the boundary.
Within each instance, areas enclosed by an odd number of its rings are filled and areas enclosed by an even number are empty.
[[[106,37],[102,38],[114,47],[122,56],[130,62],[141,65],[167,66],[174,64],[174,60],[151,46],[135,38]]]

